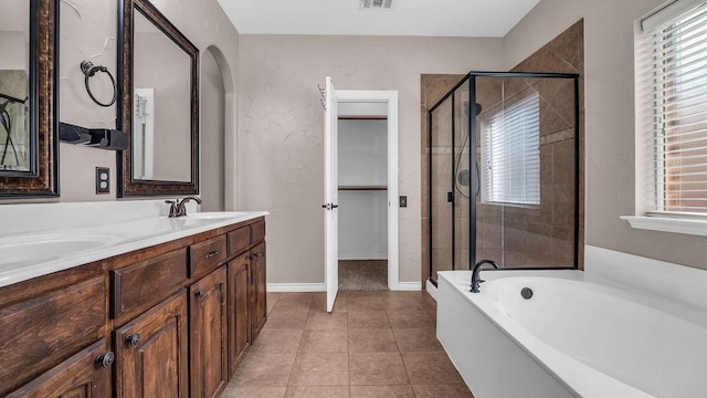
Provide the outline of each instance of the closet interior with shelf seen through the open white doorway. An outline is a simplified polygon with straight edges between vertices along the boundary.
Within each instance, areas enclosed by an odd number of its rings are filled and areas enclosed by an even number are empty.
[[[388,289],[388,104],[338,108],[339,290]]]

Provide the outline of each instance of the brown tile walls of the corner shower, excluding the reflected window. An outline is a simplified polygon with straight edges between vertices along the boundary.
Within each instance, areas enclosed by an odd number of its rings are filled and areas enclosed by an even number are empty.
[[[583,74],[583,22],[579,21],[566,32],[538,50],[535,54],[513,69],[514,72],[566,72]],[[423,170],[423,218],[422,218],[422,258],[432,256],[433,273],[437,269],[450,269],[452,262],[452,214],[451,207],[443,199],[450,190],[452,156],[449,134],[433,137],[432,148],[428,142],[428,109],[432,107],[463,75],[422,75],[422,145],[425,151],[422,156]],[[571,82],[525,82],[521,80],[478,78],[477,102],[484,106],[484,114],[493,112],[494,105],[500,102],[502,84],[505,85],[505,96],[514,92],[527,90],[532,85],[540,94],[541,126],[540,126],[540,158],[541,158],[541,207],[528,209],[478,203],[477,207],[477,259],[504,259],[506,266],[521,265],[568,265],[572,263],[573,254],[573,122],[572,103],[568,98],[573,96]],[[583,77],[580,80],[580,87]],[[583,122],[583,92],[580,88],[580,123]],[[433,124],[436,130],[451,129],[451,104],[442,105],[435,112]],[[460,115],[457,109],[456,115]],[[457,116],[458,118],[458,116]],[[570,123],[568,123],[570,121]],[[450,124],[446,126],[444,124]],[[460,121],[456,121],[460,126]],[[442,127],[442,129],[437,129]],[[580,137],[584,128],[580,124]],[[477,137],[479,138],[479,137]],[[450,142],[441,142],[446,139]],[[455,139],[458,145],[458,134]],[[581,140],[581,139],[580,139]],[[581,144],[581,143],[580,143]],[[478,148],[478,143],[476,145]],[[478,149],[477,149],[478,150]],[[477,156],[481,156],[477,153]],[[433,161],[432,184],[428,176],[429,161]],[[583,175],[583,158],[580,158],[580,175]],[[463,167],[462,167],[463,168]],[[433,191],[433,212],[429,213],[429,192]],[[583,179],[580,179],[580,192],[583,192]],[[580,209],[583,209],[583,195],[580,198]],[[455,208],[457,227],[468,229],[468,218],[465,212],[467,202],[457,200]],[[430,231],[430,217],[433,231]],[[456,231],[462,229],[457,228]],[[430,248],[430,232],[433,233],[433,247]],[[580,242],[583,241],[583,211],[580,211]],[[468,266],[467,237],[456,233],[456,269]],[[466,254],[466,255],[465,255]],[[581,259],[580,252],[580,259]],[[581,266],[581,260],[580,260]],[[426,279],[429,269],[422,266],[422,277]]]

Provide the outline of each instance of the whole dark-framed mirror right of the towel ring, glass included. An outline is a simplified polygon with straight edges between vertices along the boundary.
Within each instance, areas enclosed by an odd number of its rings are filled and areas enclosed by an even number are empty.
[[[199,50],[148,0],[120,0],[118,196],[199,193]]]

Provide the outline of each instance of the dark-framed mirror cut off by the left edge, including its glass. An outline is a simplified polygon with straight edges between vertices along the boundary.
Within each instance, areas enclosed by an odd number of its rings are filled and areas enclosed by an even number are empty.
[[[0,27],[0,198],[59,196],[59,0],[3,0]]]

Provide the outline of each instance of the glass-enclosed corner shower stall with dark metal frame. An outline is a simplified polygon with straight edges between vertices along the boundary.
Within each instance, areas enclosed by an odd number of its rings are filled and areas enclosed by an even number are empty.
[[[428,113],[429,266],[578,268],[579,75],[472,72]]]

